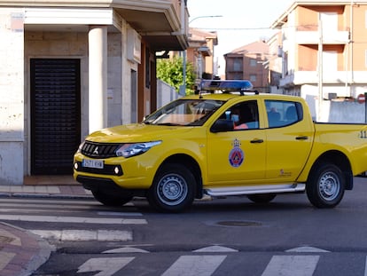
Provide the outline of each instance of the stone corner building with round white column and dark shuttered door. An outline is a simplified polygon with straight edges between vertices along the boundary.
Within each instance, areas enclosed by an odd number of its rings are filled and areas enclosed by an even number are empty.
[[[151,113],[187,18],[182,0],[0,0],[0,185],[71,175],[86,135]]]

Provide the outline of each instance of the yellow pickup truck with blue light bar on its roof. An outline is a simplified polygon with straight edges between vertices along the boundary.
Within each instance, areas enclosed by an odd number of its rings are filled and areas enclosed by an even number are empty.
[[[266,203],[306,192],[332,208],[364,171],[367,125],[313,122],[304,99],[260,94],[248,81],[203,81],[141,123],[91,133],[74,154],[74,178],[96,200],[142,196],[168,212],[204,194]]]

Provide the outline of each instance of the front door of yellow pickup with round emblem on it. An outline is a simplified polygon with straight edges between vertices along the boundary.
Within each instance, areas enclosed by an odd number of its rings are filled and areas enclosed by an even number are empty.
[[[239,114],[238,114],[239,113]],[[231,106],[218,120],[231,122],[231,130],[207,136],[208,185],[254,184],[265,177],[265,130],[259,126],[256,100]],[[234,128],[234,125],[238,129]]]

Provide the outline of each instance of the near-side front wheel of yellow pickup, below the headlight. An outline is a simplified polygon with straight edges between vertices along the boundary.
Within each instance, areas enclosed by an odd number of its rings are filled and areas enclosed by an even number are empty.
[[[191,205],[195,186],[190,170],[180,164],[166,164],[154,177],[147,198],[155,209],[180,212]]]

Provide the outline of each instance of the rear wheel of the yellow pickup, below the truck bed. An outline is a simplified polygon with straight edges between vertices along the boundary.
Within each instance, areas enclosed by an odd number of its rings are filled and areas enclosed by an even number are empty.
[[[320,163],[311,171],[306,184],[308,200],[317,208],[332,208],[344,195],[345,178],[339,167]]]

